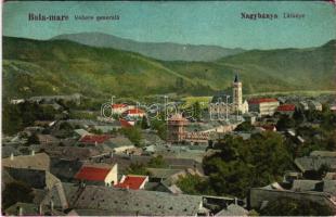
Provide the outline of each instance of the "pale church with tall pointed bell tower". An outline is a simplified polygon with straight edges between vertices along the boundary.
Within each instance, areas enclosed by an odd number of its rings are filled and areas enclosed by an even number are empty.
[[[228,118],[228,115],[238,115],[248,112],[248,103],[243,102],[242,81],[238,75],[235,75],[232,82],[232,91],[222,92],[214,95],[209,104],[209,113],[211,117]]]

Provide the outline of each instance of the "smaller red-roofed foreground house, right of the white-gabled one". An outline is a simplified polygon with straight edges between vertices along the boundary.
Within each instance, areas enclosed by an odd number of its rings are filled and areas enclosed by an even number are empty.
[[[148,182],[147,176],[127,175],[122,176],[120,182],[115,184],[115,188],[139,190],[144,189]]]

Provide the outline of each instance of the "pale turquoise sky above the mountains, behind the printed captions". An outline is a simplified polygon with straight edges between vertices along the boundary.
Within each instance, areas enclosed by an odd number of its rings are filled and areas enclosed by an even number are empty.
[[[28,21],[28,14],[68,15],[64,22]],[[246,20],[242,13],[277,14],[276,20]],[[283,18],[283,13],[305,14]],[[76,21],[75,15],[118,21]],[[308,1],[197,2],[5,2],[3,35],[49,39],[62,34],[99,31],[147,42],[274,49],[318,47],[336,38],[336,8]]]

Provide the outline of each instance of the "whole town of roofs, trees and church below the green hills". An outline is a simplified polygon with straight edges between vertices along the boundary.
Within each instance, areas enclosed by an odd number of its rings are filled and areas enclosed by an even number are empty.
[[[335,214],[335,93],[245,95],[245,84],[237,73],[206,98],[3,102],[2,214]]]

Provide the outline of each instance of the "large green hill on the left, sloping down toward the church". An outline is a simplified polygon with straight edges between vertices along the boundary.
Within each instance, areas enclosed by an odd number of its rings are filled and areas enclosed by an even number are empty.
[[[3,39],[5,97],[81,92],[91,97],[143,95],[205,87],[143,55],[70,41]]]

